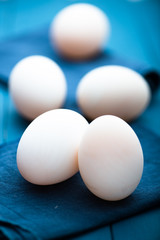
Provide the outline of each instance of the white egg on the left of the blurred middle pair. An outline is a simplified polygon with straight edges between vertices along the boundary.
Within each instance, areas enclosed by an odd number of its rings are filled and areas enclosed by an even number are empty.
[[[33,120],[48,110],[62,107],[67,84],[54,61],[35,55],[15,65],[9,77],[9,89],[19,113]]]

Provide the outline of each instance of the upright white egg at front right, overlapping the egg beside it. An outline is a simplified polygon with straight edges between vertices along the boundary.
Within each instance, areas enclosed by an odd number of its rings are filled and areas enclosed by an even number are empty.
[[[128,197],[139,184],[143,152],[125,121],[105,115],[91,122],[84,133],[78,163],[82,179],[93,194],[117,201]]]

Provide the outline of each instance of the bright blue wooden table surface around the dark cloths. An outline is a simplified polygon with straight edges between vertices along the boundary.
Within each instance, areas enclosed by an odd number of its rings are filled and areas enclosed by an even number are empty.
[[[54,15],[73,0],[8,0],[0,1],[0,42],[51,22]],[[102,8],[108,15],[112,32],[108,48],[133,60],[143,61],[160,71],[160,1],[95,0],[83,1]],[[146,112],[139,122],[160,135],[160,91],[149,113],[155,109],[156,118]],[[146,117],[147,116],[147,117]],[[28,122],[16,112],[8,90],[0,88],[0,144],[21,136]],[[110,226],[90,231],[75,240],[159,240],[160,209],[134,216]]]

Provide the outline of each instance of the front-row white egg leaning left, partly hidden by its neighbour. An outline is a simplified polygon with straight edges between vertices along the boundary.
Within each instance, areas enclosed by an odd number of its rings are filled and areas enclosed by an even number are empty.
[[[17,149],[17,166],[29,182],[50,185],[78,171],[78,147],[88,126],[79,113],[55,109],[27,127]]]

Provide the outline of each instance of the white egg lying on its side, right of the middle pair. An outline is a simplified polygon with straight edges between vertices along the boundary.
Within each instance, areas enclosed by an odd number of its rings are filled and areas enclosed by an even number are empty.
[[[87,73],[77,88],[77,102],[90,119],[115,115],[137,118],[148,106],[151,92],[137,72],[122,66],[103,66]]]

